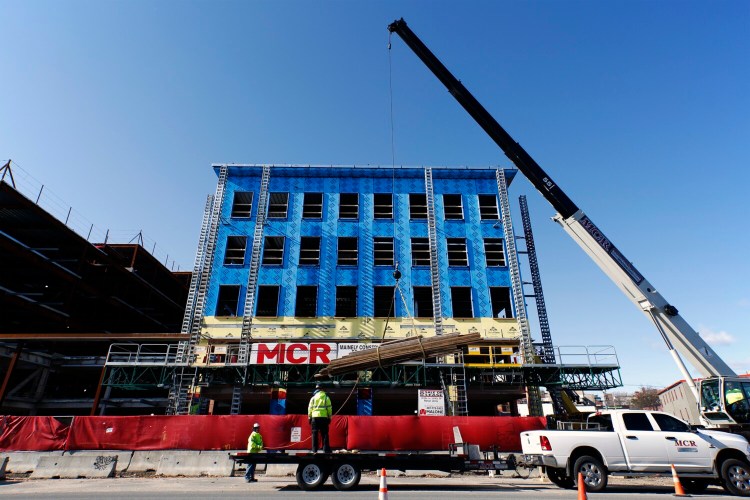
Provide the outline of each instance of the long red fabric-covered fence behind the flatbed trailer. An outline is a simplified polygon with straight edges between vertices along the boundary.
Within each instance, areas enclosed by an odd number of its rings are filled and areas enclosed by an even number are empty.
[[[0,419],[0,451],[239,450],[255,422],[267,449],[310,449],[306,415],[73,417],[69,426],[54,417]],[[544,429],[545,419],[335,416],[329,438],[333,449],[447,450],[454,426],[466,443],[510,452],[521,449],[521,432]]]

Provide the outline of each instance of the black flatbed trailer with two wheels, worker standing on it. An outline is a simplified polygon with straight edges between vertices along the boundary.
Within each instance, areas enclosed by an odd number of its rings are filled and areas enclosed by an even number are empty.
[[[333,486],[339,491],[356,487],[362,472],[380,469],[393,470],[439,470],[442,472],[504,471],[515,470],[513,454],[500,456],[492,452],[492,458],[473,458],[457,453],[452,445],[448,452],[336,452],[336,453],[230,453],[235,463],[242,464],[287,464],[297,465],[297,484],[303,490],[314,490],[322,486],[330,476]],[[468,449],[468,448],[465,448]]]

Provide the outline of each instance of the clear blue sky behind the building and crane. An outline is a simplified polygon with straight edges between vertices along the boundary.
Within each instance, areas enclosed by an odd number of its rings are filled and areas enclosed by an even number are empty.
[[[396,164],[509,166],[400,39],[389,53],[400,17],[750,370],[747,1],[0,0],[0,158],[182,269],[213,162],[390,165],[392,106]],[[510,194],[528,196],[553,340],[614,345],[625,390],[680,378],[551,206],[520,177]]]

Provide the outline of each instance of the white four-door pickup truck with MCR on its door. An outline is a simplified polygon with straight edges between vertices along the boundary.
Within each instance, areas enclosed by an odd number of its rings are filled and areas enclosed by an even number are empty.
[[[692,430],[656,411],[612,410],[578,424],[585,430],[521,433],[523,461],[544,466],[561,488],[576,486],[579,472],[587,491],[601,491],[610,474],[669,474],[674,465],[687,493],[720,484],[750,496],[750,445],[740,435]]]

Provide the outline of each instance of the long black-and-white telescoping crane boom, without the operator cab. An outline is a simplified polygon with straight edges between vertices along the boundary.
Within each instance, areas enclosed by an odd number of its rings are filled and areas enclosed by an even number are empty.
[[[680,356],[686,358],[703,377],[736,377],[735,372],[680,316],[677,308],[667,302],[596,224],[568,198],[560,186],[422,43],[403,19],[391,23],[388,30],[399,35],[438,80],[445,85],[451,95],[495,141],[518,170],[557,210],[553,219],[615,282],[630,301],[654,323],[685,377],[685,381],[690,386],[696,401],[700,400],[698,389],[695,387],[693,379]],[[750,386],[748,386],[748,389],[750,389]]]

